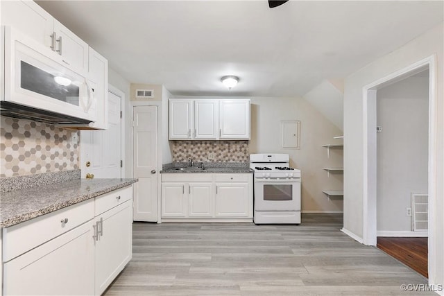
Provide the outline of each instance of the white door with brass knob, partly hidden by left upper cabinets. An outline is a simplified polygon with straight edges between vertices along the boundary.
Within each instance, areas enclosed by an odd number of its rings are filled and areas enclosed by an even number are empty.
[[[96,178],[121,177],[121,98],[108,92],[108,130],[80,132],[80,168]],[[89,166],[87,165],[89,162]]]

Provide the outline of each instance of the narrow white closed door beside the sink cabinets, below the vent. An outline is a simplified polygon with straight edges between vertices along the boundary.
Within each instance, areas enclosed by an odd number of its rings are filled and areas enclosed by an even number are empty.
[[[133,107],[134,220],[157,222],[157,107]]]

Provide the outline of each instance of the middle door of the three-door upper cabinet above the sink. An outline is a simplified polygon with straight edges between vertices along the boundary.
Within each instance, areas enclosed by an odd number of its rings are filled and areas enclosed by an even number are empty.
[[[194,139],[217,139],[218,114],[218,100],[194,100]]]

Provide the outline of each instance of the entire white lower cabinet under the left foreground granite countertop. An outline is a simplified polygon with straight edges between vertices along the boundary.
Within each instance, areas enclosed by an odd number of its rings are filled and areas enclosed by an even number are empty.
[[[132,187],[3,229],[3,295],[101,295],[132,257]]]

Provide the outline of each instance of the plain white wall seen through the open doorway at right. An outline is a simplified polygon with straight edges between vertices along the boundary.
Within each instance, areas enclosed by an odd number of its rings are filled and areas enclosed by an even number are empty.
[[[411,193],[426,193],[428,71],[377,91],[377,230],[411,231]]]

